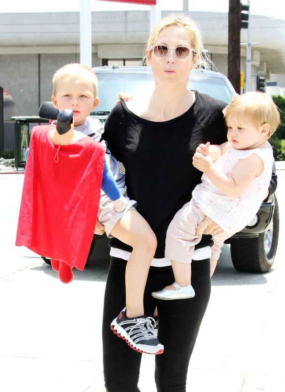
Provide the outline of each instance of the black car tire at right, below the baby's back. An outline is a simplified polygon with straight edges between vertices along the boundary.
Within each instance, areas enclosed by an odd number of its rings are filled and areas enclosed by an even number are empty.
[[[272,267],[279,236],[279,208],[275,197],[273,218],[267,229],[255,238],[236,238],[230,242],[231,261],[241,272],[262,274]]]

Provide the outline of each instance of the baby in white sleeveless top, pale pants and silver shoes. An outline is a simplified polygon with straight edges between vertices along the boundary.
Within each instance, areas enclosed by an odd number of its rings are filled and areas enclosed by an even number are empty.
[[[201,235],[197,225],[211,218],[223,231],[212,235],[213,272],[224,241],[242,230],[255,216],[269,186],[273,152],[267,141],[280,123],[270,97],[261,92],[233,96],[224,114],[228,142],[200,144],[193,165],[203,172],[192,199],[174,216],[166,238],[166,257],[175,277],[172,285],[152,293],[154,298],[192,298],[191,259]],[[215,163],[214,163],[215,162]]]

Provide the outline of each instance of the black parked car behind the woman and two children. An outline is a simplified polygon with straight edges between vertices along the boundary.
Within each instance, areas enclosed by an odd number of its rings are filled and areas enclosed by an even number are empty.
[[[102,122],[105,122],[120,92],[139,96],[154,87],[149,67],[113,65],[112,67],[95,67],[93,70],[98,77],[100,102],[96,110],[91,112],[91,116],[96,116]],[[230,102],[232,94],[235,92],[223,74],[204,69],[191,71],[189,88],[199,90],[227,103]],[[124,170],[123,166],[121,169]],[[234,268],[238,271],[252,273],[269,271],[277,251],[278,234],[278,203],[276,196],[271,195],[266,202],[262,203],[253,221],[226,241],[230,244],[230,254]],[[96,242],[99,238],[102,237],[94,236],[89,258],[92,258],[92,254],[96,252]],[[106,252],[108,252],[108,240],[107,238],[105,240]],[[47,259],[45,261],[49,262]]]

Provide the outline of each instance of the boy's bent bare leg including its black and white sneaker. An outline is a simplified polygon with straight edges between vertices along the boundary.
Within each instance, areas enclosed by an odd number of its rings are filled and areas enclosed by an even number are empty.
[[[164,347],[157,340],[153,319],[144,316],[143,294],[157,241],[150,226],[135,210],[126,211],[111,234],[133,248],[125,271],[126,307],[111,322],[114,334],[133,349],[161,354]]]

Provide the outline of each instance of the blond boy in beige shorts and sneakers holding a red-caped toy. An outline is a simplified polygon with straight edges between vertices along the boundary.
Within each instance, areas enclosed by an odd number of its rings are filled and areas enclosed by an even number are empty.
[[[79,133],[91,136],[106,148],[106,143],[102,140],[102,124],[97,119],[88,117],[99,104],[97,84],[97,77],[90,68],[83,64],[67,64],[53,77],[52,102],[59,112],[72,110],[77,137]],[[55,131],[51,131],[50,137],[54,144],[58,144]],[[154,334],[153,319],[143,315],[143,292],[156,249],[156,237],[134,208],[136,202],[127,197],[124,174],[120,174],[118,162],[108,149],[105,164],[111,168],[120,194],[127,200],[127,205],[124,211],[115,211],[113,202],[101,190],[102,208],[98,213],[98,221],[104,225],[108,236],[114,236],[133,248],[126,266],[126,308],[120,312],[119,322],[117,322],[118,318],[113,320],[111,328],[119,337],[126,339],[134,350],[161,354],[164,347]],[[82,197],[87,198],[92,195],[82,195]],[[78,219],[80,220],[80,217]]]

